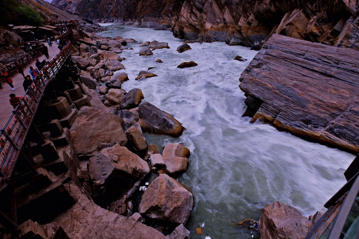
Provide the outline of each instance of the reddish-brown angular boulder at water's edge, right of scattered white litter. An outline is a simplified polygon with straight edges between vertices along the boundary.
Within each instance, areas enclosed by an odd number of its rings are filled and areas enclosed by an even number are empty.
[[[173,178],[161,174],[144,192],[139,212],[149,218],[185,224],[192,207],[192,193]]]

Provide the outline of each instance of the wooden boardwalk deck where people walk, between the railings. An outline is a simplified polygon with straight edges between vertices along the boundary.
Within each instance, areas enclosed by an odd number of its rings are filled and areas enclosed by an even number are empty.
[[[48,47],[48,54],[49,54],[49,58],[46,59],[46,57],[44,55],[39,56],[38,59],[40,61],[46,60],[46,61],[50,61],[52,59],[52,57],[55,57],[59,52],[59,48],[57,48],[57,44],[55,41],[52,42],[52,47],[50,48],[48,46],[47,43],[45,43],[45,46]],[[28,66],[24,67],[24,75],[31,75],[29,73],[30,70],[30,66],[36,68],[35,66],[35,61],[31,62]],[[32,77],[31,77],[32,78]],[[10,99],[10,94],[14,93],[16,96],[24,96],[25,91],[24,91],[24,87],[22,86],[23,82],[24,82],[24,77],[20,74],[20,73],[16,73],[13,77],[11,77],[11,79],[13,79],[13,85],[16,88],[15,90],[11,90],[11,87],[3,82],[2,86],[3,89],[0,90],[0,129],[4,127],[4,125],[6,124],[6,122],[8,121],[8,119],[10,118],[11,114],[13,113],[13,106],[10,105],[9,99]]]

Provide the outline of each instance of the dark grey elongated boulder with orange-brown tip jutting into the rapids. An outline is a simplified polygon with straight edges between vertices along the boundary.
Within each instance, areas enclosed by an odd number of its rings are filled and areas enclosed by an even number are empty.
[[[141,104],[138,111],[140,117],[139,123],[145,132],[179,137],[186,129],[172,115],[158,109],[149,102]]]

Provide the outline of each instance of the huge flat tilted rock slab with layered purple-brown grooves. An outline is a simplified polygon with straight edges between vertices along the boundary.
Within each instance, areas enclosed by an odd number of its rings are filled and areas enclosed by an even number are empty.
[[[239,79],[244,115],[358,153],[358,76],[354,50],[273,34]]]

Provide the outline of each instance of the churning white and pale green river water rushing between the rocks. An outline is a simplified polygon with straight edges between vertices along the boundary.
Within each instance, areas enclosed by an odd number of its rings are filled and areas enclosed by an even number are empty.
[[[126,91],[139,88],[145,101],[167,111],[187,130],[179,138],[145,134],[148,143],[162,148],[167,142],[191,150],[190,165],[178,178],[195,196],[195,206],[185,225],[191,238],[251,238],[248,229],[231,220],[258,219],[262,208],[278,200],[299,209],[304,216],[325,211],[323,204],[344,185],[344,171],[354,155],[307,142],[267,124],[242,118],[246,105],[238,78],[256,51],[223,42],[193,43],[178,53],[183,40],[170,31],[108,25],[106,37],[117,35],[138,42],[168,42],[170,49],[156,49],[153,56],[139,56],[138,43],[120,56],[130,80]],[[248,61],[239,62],[235,56]],[[163,63],[156,63],[156,59]],[[195,61],[198,66],[177,65]],[[135,81],[139,71],[158,77]],[[117,72],[116,72],[117,73]],[[202,235],[195,229],[202,226]],[[255,238],[258,236],[255,235]]]

